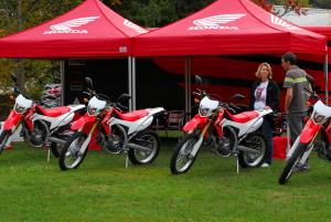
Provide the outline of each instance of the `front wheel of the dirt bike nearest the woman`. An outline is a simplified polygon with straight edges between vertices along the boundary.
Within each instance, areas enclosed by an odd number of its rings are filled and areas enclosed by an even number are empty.
[[[199,137],[195,134],[188,134],[177,145],[170,160],[170,170],[173,175],[188,172],[193,166],[196,155],[192,156],[191,151],[197,142]]]

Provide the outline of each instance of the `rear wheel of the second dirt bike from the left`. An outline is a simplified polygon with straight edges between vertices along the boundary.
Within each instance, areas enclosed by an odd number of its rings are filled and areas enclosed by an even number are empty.
[[[160,151],[160,139],[152,130],[145,130],[134,138],[134,144],[148,148],[149,150],[129,149],[128,157],[134,165],[147,165],[154,161]]]

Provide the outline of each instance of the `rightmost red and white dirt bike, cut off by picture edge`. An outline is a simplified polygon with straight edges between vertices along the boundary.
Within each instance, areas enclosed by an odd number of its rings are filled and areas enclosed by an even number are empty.
[[[278,179],[280,184],[287,183],[297,165],[303,165],[312,150],[318,157],[331,161],[331,107],[324,105],[319,96],[305,89],[310,98],[317,99],[310,118],[306,123],[299,137],[287,154],[287,163]]]

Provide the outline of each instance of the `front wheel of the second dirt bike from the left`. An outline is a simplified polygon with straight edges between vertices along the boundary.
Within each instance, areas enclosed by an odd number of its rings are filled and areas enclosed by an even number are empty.
[[[88,150],[86,149],[84,154],[79,151],[86,138],[86,134],[78,131],[65,142],[58,158],[58,166],[62,170],[76,169],[79,167]]]

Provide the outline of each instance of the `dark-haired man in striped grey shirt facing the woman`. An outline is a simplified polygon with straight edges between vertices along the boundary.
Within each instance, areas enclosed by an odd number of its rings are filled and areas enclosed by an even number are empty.
[[[288,126],[290,130],[291,145],[296,141],[305,125],[305,116],[307,115],[308,95],[302,93],[303,88],[310,88],[306,76],[307,73],[297,66],[297,55],[286,53],[281,56],[281,67],[286,71],[284,88],[285,112],[288,117]],[[302,166],[297,166],[298,170],[308,170],[308,161]]]

